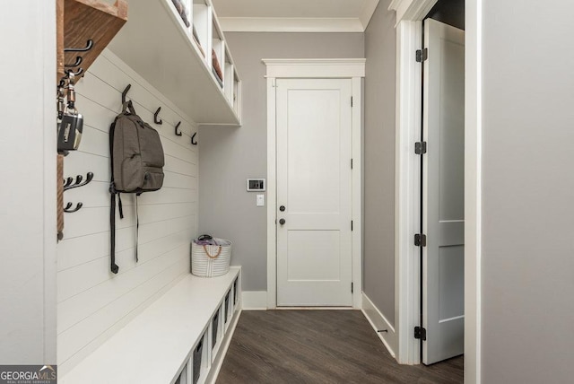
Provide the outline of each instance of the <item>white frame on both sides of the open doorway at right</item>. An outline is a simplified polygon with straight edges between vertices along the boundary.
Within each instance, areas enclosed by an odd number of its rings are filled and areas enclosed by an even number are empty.
[[[397,360],[420,363],[419,248],[420,162],[413,143],[421,136],[422,20],[438,0],[393,0],[396,11],[396,223],[395,269]],[[482,9],[483,0],[465,0],[465,383],[481,382],[481,206],[482,206]]]

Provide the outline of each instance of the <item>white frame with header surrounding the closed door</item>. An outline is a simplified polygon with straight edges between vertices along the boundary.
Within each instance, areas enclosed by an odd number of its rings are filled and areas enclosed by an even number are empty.
[[[263,59],[267,79],[267,309],[277,308],[276,234],[276,79],[330,78],[351,79],[352,100],[352,308],[361,309],[362,291],[362,90],[364,58],[343,59]]]

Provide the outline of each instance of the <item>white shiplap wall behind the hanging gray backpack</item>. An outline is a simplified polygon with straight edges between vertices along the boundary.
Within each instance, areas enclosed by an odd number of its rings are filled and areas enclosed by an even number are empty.
[[[161,135],[165,152],[163,188],[138,197],[139,262],[135,262],[135,196],[122,194],[124,219],[117,214],[116,262],[109,271],[109,126],[121,111],[121,92],[136,113]],[[84,117],[80,150],[65,158],[65,177],[94,179],[65,192],[83,202],[65,214],[64,240],[57,246],[57,360],[65,374],[117,329],[189,272],[189,242],[196,236],[198,153],[191,144],[195,124],[170,100],[108,50],[78,83],[76,104]],[[163,124],[153,124],[161,107]],[[181,121],[182,136],[174,126]]]

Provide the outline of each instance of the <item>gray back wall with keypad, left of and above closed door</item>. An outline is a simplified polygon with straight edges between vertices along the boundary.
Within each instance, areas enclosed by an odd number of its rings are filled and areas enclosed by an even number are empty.
[[[227,32],[243,82],[243,126],[201,127],[199,231],[233,241],[245,291],[267,290],[266,208],[245,179],[266,178],[267,111],[262,58],[364,57],[362,33]],[[266,196],[265,196],[266,203]]]

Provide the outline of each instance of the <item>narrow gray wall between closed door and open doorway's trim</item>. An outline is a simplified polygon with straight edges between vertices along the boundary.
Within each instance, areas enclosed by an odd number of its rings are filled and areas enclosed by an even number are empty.
[[[378,3],[365,31],[363,290],[395,324],[395,12]]]

